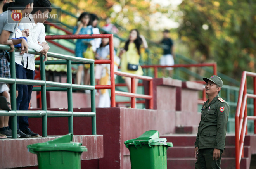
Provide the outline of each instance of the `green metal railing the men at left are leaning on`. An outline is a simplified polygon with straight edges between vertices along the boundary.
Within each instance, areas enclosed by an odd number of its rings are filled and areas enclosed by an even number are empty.
[[[0,45],[1,50],[10,50],[10,46]],[[19,50],[16,50],[19,52]],[[28,53],[40,55],[35,50],[29,50]],[[92,134],[96,135],[96,106],[95,106],[95,78],[94,78],[94,60],[69,55],[61,55],[58,53],[47,53],[48,57],[54,57],[64,60],[54,60],[43,62],[43,56],[40,56],[40,75],[41,80],[16,79],[15,76],[15,56],[14,52],[10,52],[10,73],[11,78],[0,78],[0,82],[10,84],[11,107],[12,111],[0,110],[0,116],[11,116],[12,122],[12,138],[17,138],[17,116],[33,116],[42,117],[42,136],[47,137],[47,117],[68,117],[69,133],[73,133],[73,117],[92,117]],[[45,63],[66,64],[67,65],[67,83],[57,83],[46,81]],[[90,83],[91,85],[72,84],[71,64],[90,64]],[[42,110],[38,111],[20,111],[16,109],[16,84],[22,85],[39,85],[41,91]],[[51,90],[67,90],[68,111],[49,111],[46,105],[46,91]],[[91,112],[73,112],[72,90],[91,90]]]

